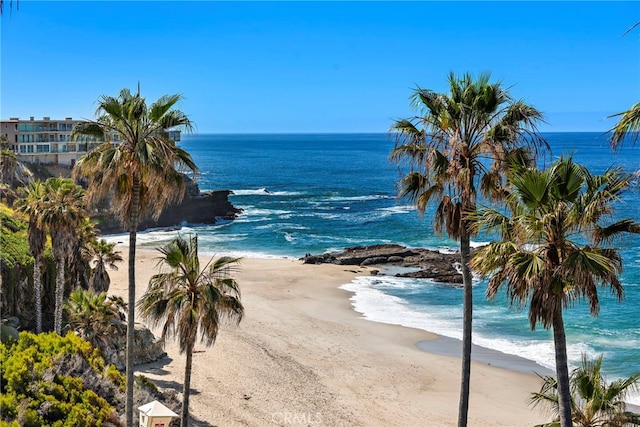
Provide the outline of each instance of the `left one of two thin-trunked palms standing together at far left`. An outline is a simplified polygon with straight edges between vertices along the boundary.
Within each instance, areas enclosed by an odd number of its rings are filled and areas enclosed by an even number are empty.
[[[33,298],[36,315],[36,332],[42,332],[42,253],[47,242],[46,226],[43,223],[46,187],[41,181],[21,187],[16,201],[16,210],[29,217],[29,251],[33,256]]]

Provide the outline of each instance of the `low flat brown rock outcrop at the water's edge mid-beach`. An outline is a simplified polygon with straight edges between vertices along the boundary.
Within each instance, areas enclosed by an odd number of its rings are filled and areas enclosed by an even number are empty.
[[[383,244],[354,246],[345,248],[343,251],[321,255],[307,254],[301,260],[305,264],[391,265],[413,270],[397,273],[396,277],[423,278],[439,283],[462,284],[459,253],[443,253],[429,249],[410,249],[401,245]]]

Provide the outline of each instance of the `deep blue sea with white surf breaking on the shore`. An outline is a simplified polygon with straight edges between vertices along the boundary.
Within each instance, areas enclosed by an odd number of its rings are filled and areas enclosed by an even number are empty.
[[[598,133],[547,133],[551,159],[573,154],[593,172],[622,166],[640,168],[640,146],[613,154]],[[243,209],[234,221],[189,225],[198,233],[201,253],[247,257],[302,257],[348,246],[398,243],[452,251],[457,243],[433,232],[432,210],[420,218],[396,198],[397,167],[389,163],[393,141],[384,134],[190,135],[181,147],[200,168],[202,190],[230,189]],[[547,161],[547,164],[549,161]],[[617,216],[640,219],[640,189],[627,191]],[[141,233],[138,241],[157,246],[171,232]],[[476,238],[477,244],[489,240]],[[640,238],[619,242],[624,259],[626,299],[617,303],[605,289],[597,318],[586,304],[566,310],[572,366],[581,354],[604,354],[608,379],[640,371]],[[354,308],[369,319],[423,328],[460,338],[462,291],[428,280],[359,277],[346,288]],[[532,332],[525,310],[508,307],[504,297],[487,301],[485,283],[474,289],[474,342],[553,367],[550,331]],[[634,398],[640,403],[640,399]]]

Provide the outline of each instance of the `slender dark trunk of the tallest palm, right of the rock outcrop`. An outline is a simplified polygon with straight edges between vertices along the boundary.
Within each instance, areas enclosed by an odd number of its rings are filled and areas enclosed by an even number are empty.
[[[460,407],[458,427],[466,427],[469,413],[469,386],[471,382],[471,330],[473,320],[473,283],[469,260],[471,258],[471,237],[467,231],[460,236],[460,261],[462,263],[463,314],[462,314],[462,380],[460,384]]]

